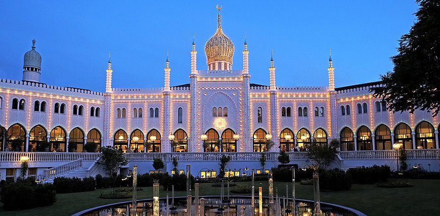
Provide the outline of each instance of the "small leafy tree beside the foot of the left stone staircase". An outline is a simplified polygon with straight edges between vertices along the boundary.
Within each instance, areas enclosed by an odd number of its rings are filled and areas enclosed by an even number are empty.
[[[102,147],[101,160],[97,163],[102,165],[107,177],[113,177],[121,169],[122,166],[128,164],[127,159],[124,157],[124,153],[112,148]]]

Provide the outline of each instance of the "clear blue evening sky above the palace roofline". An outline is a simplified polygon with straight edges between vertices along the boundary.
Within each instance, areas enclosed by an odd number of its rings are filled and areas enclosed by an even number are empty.
[[[193,33],[206,70],[216,4],[235,45],[233,69],[243,68],[246,33],[251,83],[269,85],[273,49],[277,86],[327,86],[329,49],[336,87],[378,81],[418,8],[411,0],[3,1],[0,78],[22,79],[35,38],[43,83],[104,91],[111,51],[113,87],[161,87],[166,50],[171,85],[189,83]]]

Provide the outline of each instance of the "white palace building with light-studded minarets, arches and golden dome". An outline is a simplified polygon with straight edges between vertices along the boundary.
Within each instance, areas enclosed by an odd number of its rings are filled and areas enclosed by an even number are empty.
[[[331,57],[328,86],[277,86],[273,59],[270,86],[252,84],[246,41],[243,69],[232,70],[235,47],[219,12],[217,30],[205,44],[206,70],[197,68],[193,42],[189,84],[180,86],[169,84],[168,59],[164,86],[157,88],[112,88],[110,60],[105,92],[41,83],[33,40],[24,55],[23,80],[0,80],[1,179],[19,176],[23,156],[29,176],[94,176],[102,173],[96,163],[100,146],[127,152],[129,164],[121,172],[135,164],[140,173],[153,171],[155,157],[163,158],[169,172],[177,157],[182,170],[191,164],[195,176],[209,177],[228,154],[230,174],[241,175],[260,169],[261,151],[268,151],[266,169],[279,164],[280,149],[289,153],[290,164],[303,167],[307,147],[331,139],[341,143],[332,167],[396,169],[392,145],[400,143],[411,167],[440,168],[438,116],[390,112],[369,91],[379,82],[335,88]],[[267,139],[275,142],[271,149]]]

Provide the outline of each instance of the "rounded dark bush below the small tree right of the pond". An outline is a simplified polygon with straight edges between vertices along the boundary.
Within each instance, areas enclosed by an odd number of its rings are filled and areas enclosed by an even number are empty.
[[[343,170],[326,170],[319,175],[320,190],[340,191],[351,188],[351,176]]]

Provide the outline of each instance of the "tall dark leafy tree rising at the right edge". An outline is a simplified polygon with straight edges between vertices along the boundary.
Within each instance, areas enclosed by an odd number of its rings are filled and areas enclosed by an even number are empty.
[[[391,57],[392,72],[382,75],[383,87],[372,88],[393,112],[440,108],[440,1],[417,0],[417,22],[399,40],[399,54]]]

